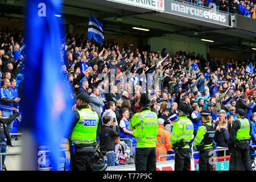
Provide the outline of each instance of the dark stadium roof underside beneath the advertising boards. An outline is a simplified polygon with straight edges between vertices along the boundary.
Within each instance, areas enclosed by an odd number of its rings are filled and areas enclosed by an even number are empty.
[[[104,23],[104,32],[113,35],[135,35],[140,37],[183,35],[188,38],[214,40],[211,47],[232,51],[255,52],[256,20],[240,15],[229,15],[229,26],[188,18],[174,13],[124,5],[118,0],[64,0],[65,24],[73,27],[88,27],[89,16]],[[167,3],[166,0],[165,3]],[[0,18],[24,19],[24,0],[0,1]],[[150,29],[138,31],[137,26]]]

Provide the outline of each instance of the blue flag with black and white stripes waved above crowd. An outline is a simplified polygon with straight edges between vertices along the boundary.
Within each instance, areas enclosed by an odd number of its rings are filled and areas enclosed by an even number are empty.
[[[94,39],[97,43],[101,44],[104,40],[103,24],[99,22],[93,15],[90,15],[89,28],[88,28],[88,39]]]

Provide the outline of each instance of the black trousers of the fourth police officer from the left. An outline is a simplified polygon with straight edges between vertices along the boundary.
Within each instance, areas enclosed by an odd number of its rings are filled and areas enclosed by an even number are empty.
[[[213,171],[213,148],[200,151],[199,171]]]

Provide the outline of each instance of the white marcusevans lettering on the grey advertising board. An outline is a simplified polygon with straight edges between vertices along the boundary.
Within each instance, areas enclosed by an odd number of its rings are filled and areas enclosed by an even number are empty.
[[[176,3],[171,3],[171,10],[172,11],[177,11],[180,13],[184,13],[184,14],[191,14],[191,15],[195,15],[195,16],[199,16],[201,18],[206,18],[206,19],[212,19],[212,20],[216,20],[218,22],[226,22],[226,16],[225,15],[221,15],[218,14],[217,11],[212,11],[212,10],[200,10],[200,9],[196,9],[195,7],[189,7],[189,6],[185,6],[185,5],[179,5]]]

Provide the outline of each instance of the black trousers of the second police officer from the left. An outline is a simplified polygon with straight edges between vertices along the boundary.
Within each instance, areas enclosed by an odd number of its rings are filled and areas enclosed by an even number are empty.
[[[136,148],[135,168],[136,171],[156,171],[155,147]]]

